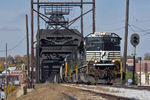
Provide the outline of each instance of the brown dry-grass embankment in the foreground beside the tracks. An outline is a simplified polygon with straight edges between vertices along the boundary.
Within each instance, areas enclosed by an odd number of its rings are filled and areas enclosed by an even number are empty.
[[[16,95],[10,96],[8,100],[69,100],[63,93],[77,98],[78,100],[106,100],[100,96],[83,92],[79,89],[64,87],[60,84],[37,84],[35,89],[16,98]]]

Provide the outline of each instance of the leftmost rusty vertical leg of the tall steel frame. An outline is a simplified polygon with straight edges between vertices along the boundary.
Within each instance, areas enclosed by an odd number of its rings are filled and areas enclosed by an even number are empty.
[[[33,81],[34,81],[34,22],[33,22],[33,17],[34,17],[34,14],[33,14],[33,0],[31,0],[31,79],[32,79],[32,85],[33,85]]]

